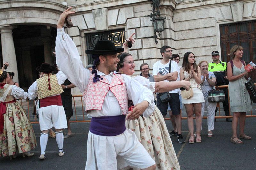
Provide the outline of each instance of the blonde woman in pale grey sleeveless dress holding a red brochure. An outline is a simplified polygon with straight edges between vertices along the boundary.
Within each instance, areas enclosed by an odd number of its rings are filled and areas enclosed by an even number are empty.
[[[252,110],[251,99],[245,87],[246,79],[252,73],[244,69],[245,62],[242,60],[243,47],[235,45],[230,50],[230,62],[227,64],[227,76],[229,80],[228,90],[230,98],[230,110],[233,112],[232,121],[232,137],[231,142],[235,144],[243,144],[239,139],[251,140],[252,138],[244,134],[245,115],[246,112]],[[243,62],[243,63],[242,63]],[[239,137],[237,137],[237,125],[239,120]]]

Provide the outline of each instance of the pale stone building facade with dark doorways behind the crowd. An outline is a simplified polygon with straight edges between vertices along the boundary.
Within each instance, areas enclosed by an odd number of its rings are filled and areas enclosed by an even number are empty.
[[[244,45],[248,51],[244,53],[246,61],[254,61],[255,3],[255,0],[160,0],[160,11],[166,20],[156,44],[148,16],[152,13],[151,0],[0,0],[0,57],[10,62],[9,70],[18,75],[15,81],[19,78],[21,87],[28,88],[37,77],[36,66],[44,61],[53,64],[56,23],[60,13],[72,6],[76,11],[71,16],[74,27],[66,32],[75,42],[84,66],[92,62],[85,50],[93,48],[96,41],[111,39],[120,46],[134,32],[136,43],[130,53],[135,59],[136,73],[142,63],[152,68],[162,58],[163,45],[171,46],[181,59],[185,52],[191,51],[197,62],[211,62],[212,51],[219,51],[227,61],[231,45],[248,43],[248,47]]]

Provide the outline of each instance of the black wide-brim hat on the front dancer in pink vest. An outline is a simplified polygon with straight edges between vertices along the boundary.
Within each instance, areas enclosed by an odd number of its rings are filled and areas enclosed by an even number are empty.
[[[93,50],[85,50],[86,54],[116,54],[124,51],[124,48],[116,48],[110,40],[98,41]]]

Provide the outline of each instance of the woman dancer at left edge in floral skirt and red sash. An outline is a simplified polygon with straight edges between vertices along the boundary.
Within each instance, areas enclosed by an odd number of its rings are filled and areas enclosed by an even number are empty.
[[[3,66],[4,67],[4,66]],[[16,99],[28,96],[27,92],[16,85],[6,84],[9,74],[1,71],[0,77],[0,152],[2,156],[16,157],[16,151],[22,156],[33,156],[28,151],[37,145],[34,130],[24,108]]]

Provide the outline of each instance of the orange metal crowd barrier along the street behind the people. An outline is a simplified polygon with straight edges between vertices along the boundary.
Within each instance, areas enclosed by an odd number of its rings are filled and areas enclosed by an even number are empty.
[[[255,85],[256,85],[256,83],[255,83]],[[228,85],[222,85],[222,86],[219,86],[219,88],[228,88]],[[73,105],[74,114],[70,118],[70,122],[91,122],[91,120],[87,117],[87,114],[84,111],[84,103],[83,103],[84,101],[82,100],[82,95],[72,95],[72,98],[73,98],[72,105]],[[80,102],[81,102],[81,104],[80,104]],[[36,115],[33,115],[35,102],[29,101],[29,100],[26,100],[26,101],[20,100],[20,103],[24,107],[24,109],[30,119],[30,122],[31,123],[39,123],[38,118],[36,118]],[[228,103],[230,103],[229,91],[228,91]],[[229,106],[229,116],[221,116],[220,115],[220,105],[221,104],[222,103],[217,103],[217,107],[219,108],[219,113],[217,113],[218,116],[215,116],[215,118],[216,119],[232,118],[232,116],[230,115],[230,113],[231,113],[230,106]],[[180,111],[180,113],[181,113],[181,111]],[[181,116],[181,119],[187,119],[187,117],[182,117],[182,114],[180,114],[180,116]],[[250,115],[246,115],[246,117],[256,117],[256,115],[253,115],[252,111],[251,111]],[[194,119],[195,119],[195,117],[194,117]],[[203,119],[207,119],[207,117],[204,116]],[[170,118],[165,118],[165,120],[170,120]]]

